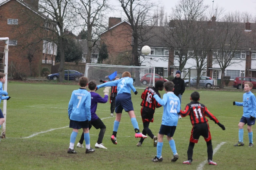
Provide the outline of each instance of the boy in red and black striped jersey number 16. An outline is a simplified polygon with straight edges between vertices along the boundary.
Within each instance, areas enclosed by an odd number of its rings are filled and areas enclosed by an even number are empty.
[[[151,139],[153,139],[154,147],[157,146],[157,136],[153,135],[151,130],[148,128],[149,123],[154,121],[154,113],[155,109],[161,107],[155,98],[153,98],[153,95],[157,94],[159,97],[161,97],[160,93],[158,91],[163,90],[163,81],[158,80],[155,83],[155,87],[150,86],[147,87],[144,92],[141,94],[142,102],[141,102],[141,118],[143,122],[143,135],[149,135]],[[144,138],[142,137],[141,140],[137,143],[137,146],[141,146],[144,141]]]

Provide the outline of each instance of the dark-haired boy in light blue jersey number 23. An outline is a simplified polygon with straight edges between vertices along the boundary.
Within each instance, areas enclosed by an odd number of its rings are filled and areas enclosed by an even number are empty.
[[[166,91],[166,94],[163,95],[163,99],[161,99],[158,95],[154,95],[156,101],[163,106],[163,116],[162,124],[158,133],[157,155],[151,161],[162,162],[163,136],[166,135],[173,152],[173,158],[171,161],[175,162],[179,159],[179,155],[172,137],[178,124],[180,101],[179,97],[173,93],[174,83],[172,81],[165,82],[163,86],[164,90]]]

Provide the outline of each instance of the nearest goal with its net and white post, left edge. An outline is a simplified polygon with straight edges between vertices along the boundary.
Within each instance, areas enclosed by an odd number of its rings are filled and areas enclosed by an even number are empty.
[[[7,75],[8,75],[8,44],[9,44],[9,38],[0,38],[0,72],[5,73],[5,84],[3,85],[3,90],[7,91]],[[0,99],[1,100],[1,99]],[[1,102],[1,109],[3,112],[3,115],[5,117],[5,122],[2,125],[2,133],[1,137],[5,138],[6,135],[6,106],[7,106],[7,101],[3,100]]]

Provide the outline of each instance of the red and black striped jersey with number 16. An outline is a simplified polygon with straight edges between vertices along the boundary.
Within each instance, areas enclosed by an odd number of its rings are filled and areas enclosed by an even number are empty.
[[[147,87],[141,94],[141,98],[143,99],[141,102],[141,106],[149,107],[153,110],[155,110],[158,107],[161,107],[162,105],[160,105],[153,97],[154,94],[157,94],[159,97],[161,97],[160,93],[155,87]]]

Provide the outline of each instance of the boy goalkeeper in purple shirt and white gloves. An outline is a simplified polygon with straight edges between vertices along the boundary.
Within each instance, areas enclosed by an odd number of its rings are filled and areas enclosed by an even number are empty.
[[[96,115],[96,109],[98,103],[107,103],[108,97],[109,97],[109,89],[110,87],[106,87],[104,89],[104,95],[105,97],[102,98],[99,94],[95,93],[96,90],[96,82],[94,80],[89,81],[88,87],[90,89],[91,93],[91,122],[89,123],[89,130],[92,128],[92,126],[95,127],[95,129],[100,129],[98,141],[95,144],[95,148],[103,148],[107,149],[103,146],[102,140],[106,131],[105,124],[101,121],[101,119]],[[77,143],[77,147],[83,148],[83,141],[84,141],[84,133],[82,133],[81,138],[79,142]]]

